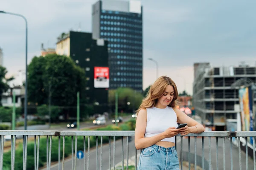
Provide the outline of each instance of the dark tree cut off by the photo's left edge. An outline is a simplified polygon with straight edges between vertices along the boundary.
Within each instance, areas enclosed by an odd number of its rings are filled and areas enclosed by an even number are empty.
[[[7,70],[5,67],[0,66],[0,106],[2,106],[2,94],[9,89],[8,82],[14,78],[6,78]]]

